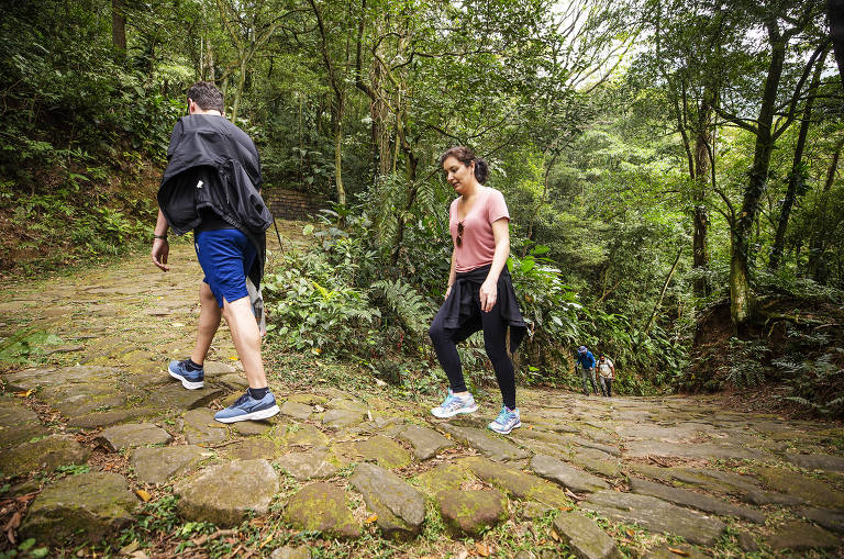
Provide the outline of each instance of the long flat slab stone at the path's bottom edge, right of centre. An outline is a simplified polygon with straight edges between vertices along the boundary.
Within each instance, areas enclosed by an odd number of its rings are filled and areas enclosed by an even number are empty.
[[[638,524],[652,532],[676,534],[703,546],[718,541],[726,529],[726,525],[717,518],[648,495],[601,491],[589,495],[580,507],[614,521]]]

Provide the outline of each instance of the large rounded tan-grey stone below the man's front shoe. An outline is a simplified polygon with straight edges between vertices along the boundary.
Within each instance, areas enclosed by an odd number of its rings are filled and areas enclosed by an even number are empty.
[[[173,492],[185,518],[235,526],[251,511],[267,514],[278,492],[278,474],[266,460],[235,460],[206,468],[174,485]]]

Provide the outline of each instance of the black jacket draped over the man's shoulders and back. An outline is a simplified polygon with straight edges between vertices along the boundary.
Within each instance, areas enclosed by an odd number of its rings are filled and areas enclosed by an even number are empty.
[[[257,287],[264,276],[267,227],[273,223],[260,197],[260,161],[255,143],[224,116],[191,114],[170,134],[167,170],[158,188],[158,208],[177,235],[200,224],[200,211],[213,210],[257,247],[248,272]],[[209,180],[196,179],[200,169]]]

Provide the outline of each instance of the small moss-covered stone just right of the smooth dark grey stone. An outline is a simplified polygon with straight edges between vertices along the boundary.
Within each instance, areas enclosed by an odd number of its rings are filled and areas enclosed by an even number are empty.
[[[436,503],[454,532],[477,536],[507,517],[504,495],[497,490],[441,491]]]

